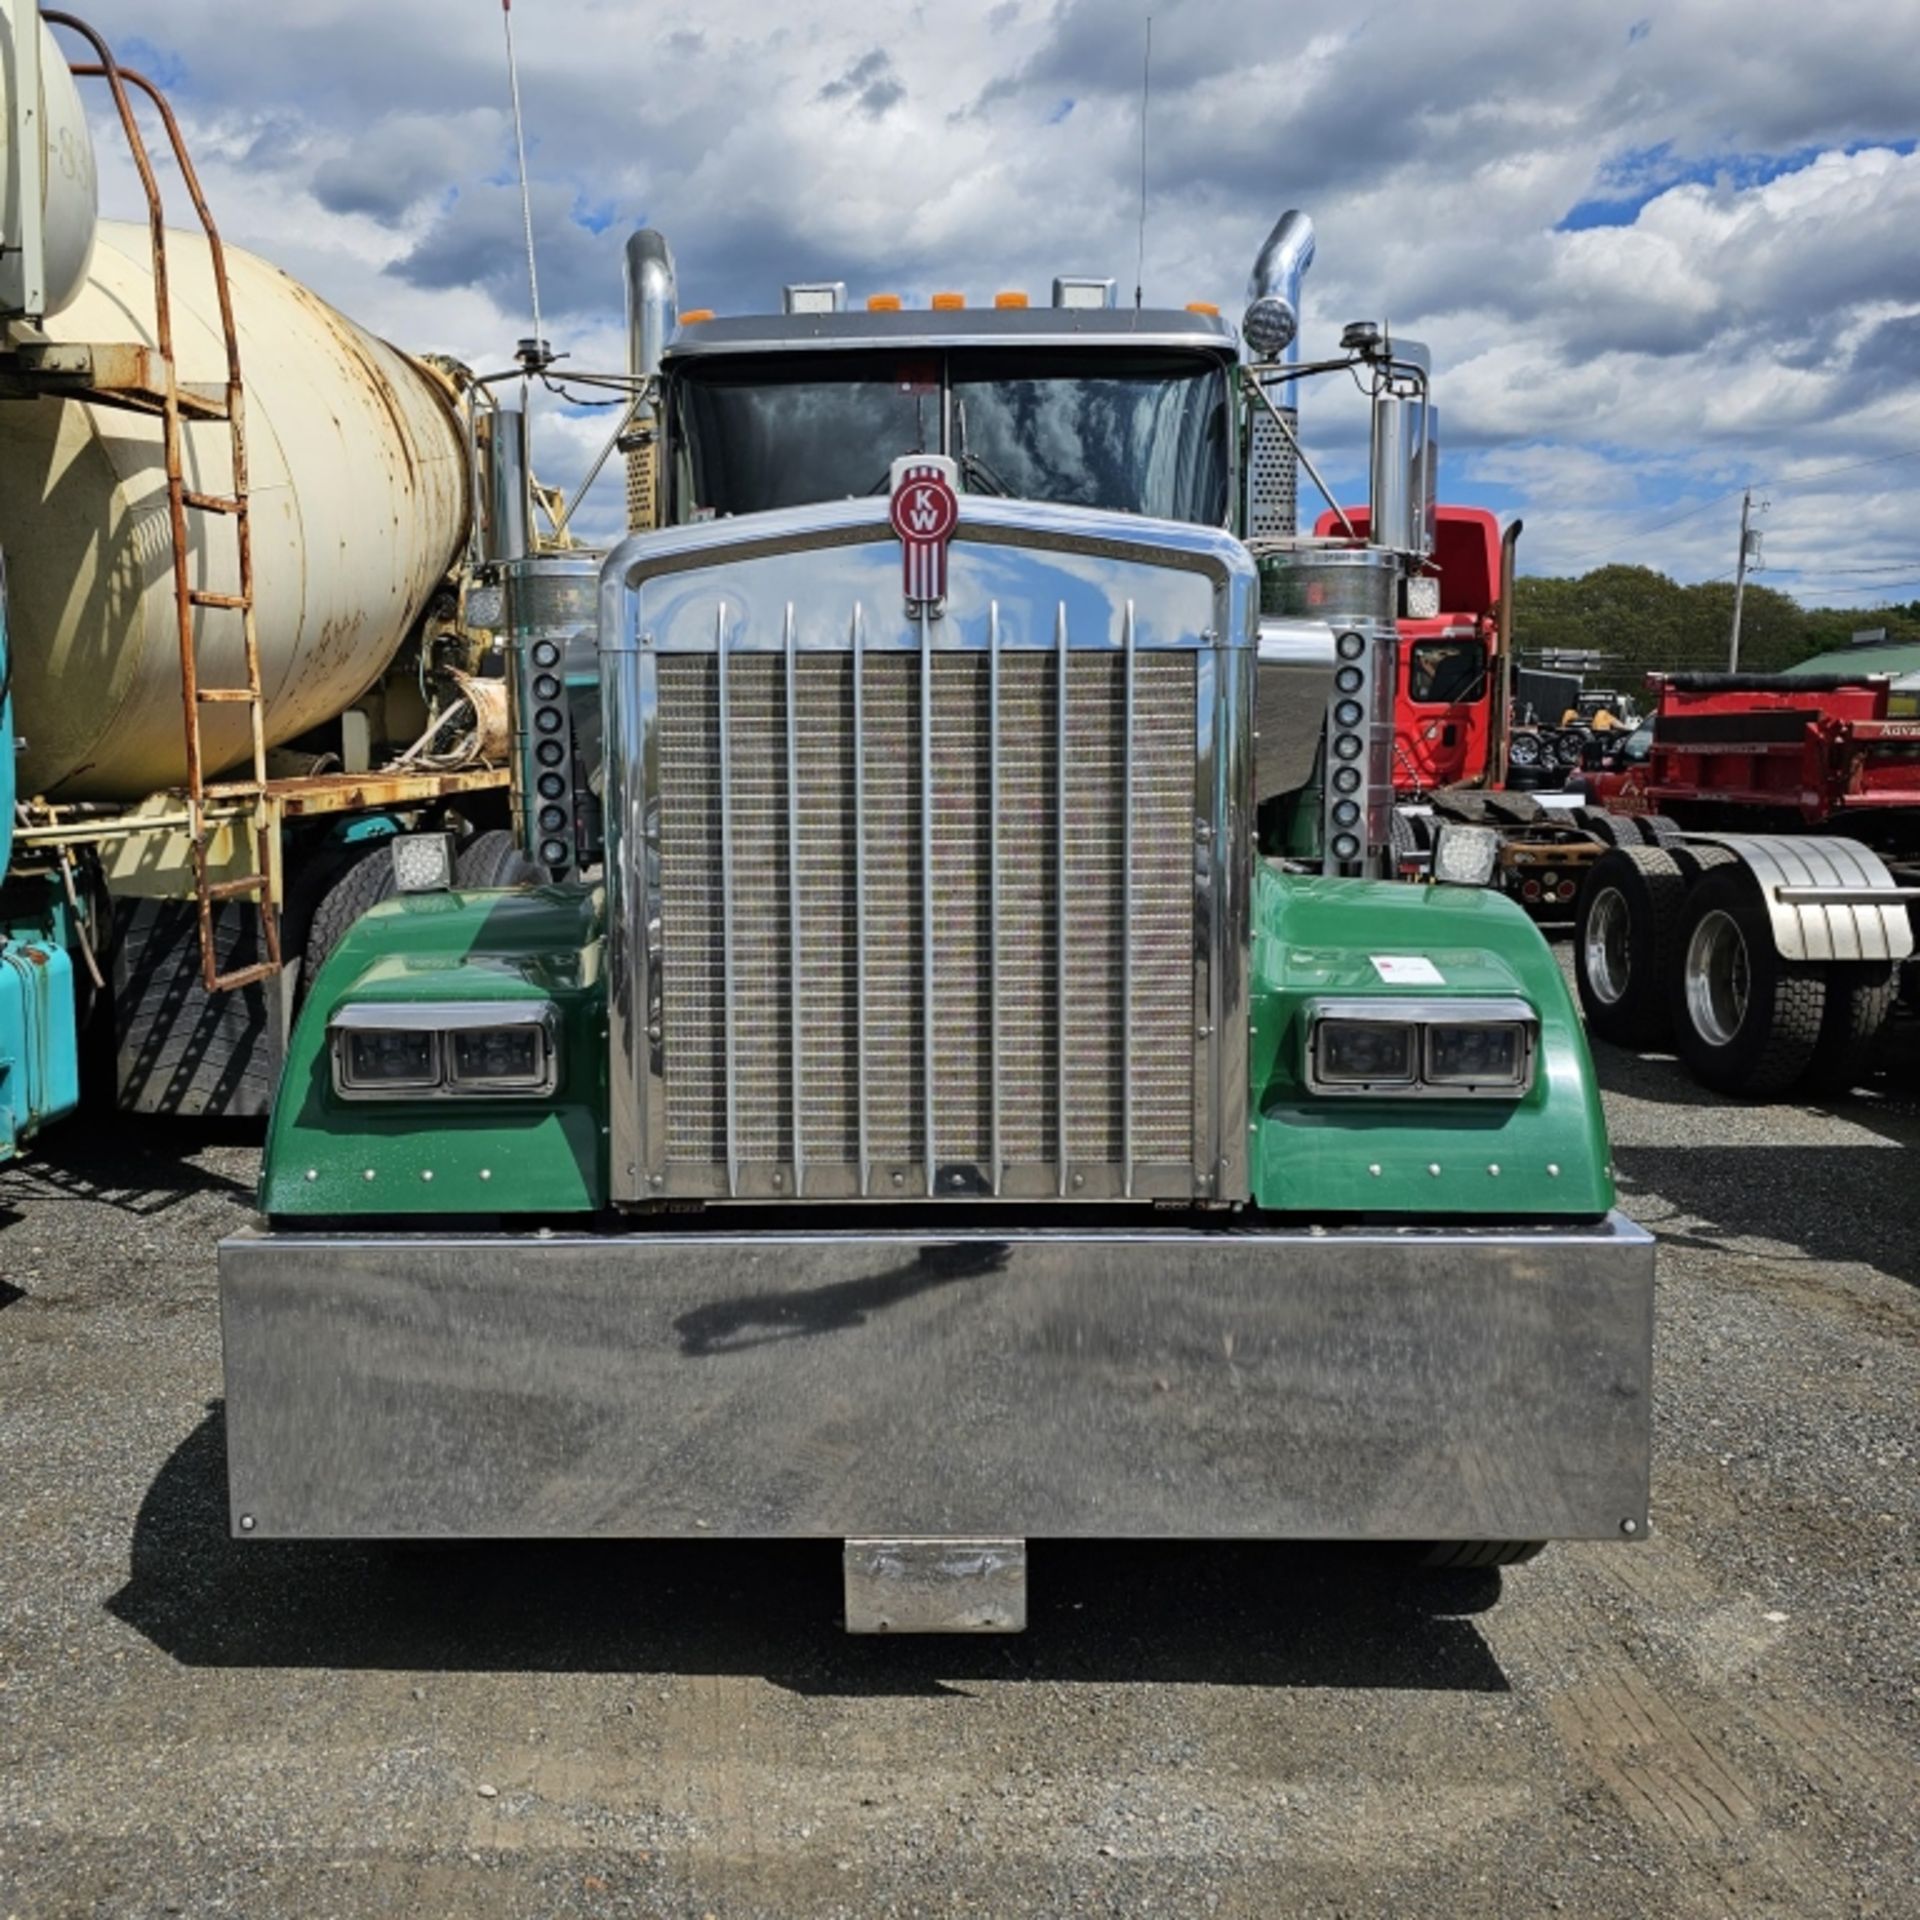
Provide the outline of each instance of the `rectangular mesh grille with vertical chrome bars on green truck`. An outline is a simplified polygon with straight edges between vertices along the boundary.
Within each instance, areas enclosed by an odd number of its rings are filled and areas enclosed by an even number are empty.
[[[1202,655],[791,630],[655,666],[655,1190],[1204,1190]]]

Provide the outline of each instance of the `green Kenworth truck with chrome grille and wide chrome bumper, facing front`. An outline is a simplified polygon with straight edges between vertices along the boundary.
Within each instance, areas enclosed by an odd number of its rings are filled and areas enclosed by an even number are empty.
[[[929,1630],[1043,1536],[1645,1532],[1559,968],[1492,835],[1377,877],[1434,411],[1375,326],[1298,357],[1311,252],[1236,332],[680,313],[630,240],[634,532],[505,568],[526,883],[380,854],[221,1248],[236,1534],[828,1536]],[[1365,541],[1296,534],[1323,372]]]

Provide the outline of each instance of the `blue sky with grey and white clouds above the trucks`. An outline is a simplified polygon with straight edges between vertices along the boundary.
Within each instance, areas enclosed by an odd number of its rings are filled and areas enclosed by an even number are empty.
[[[230,240],[411,351],[505,363],[530,321],[497,0],[84,13],[169,88]],[[513,31],[574,367],[620,365],[641,225],[722,313],[783,280],[922,305],[1096,273],[1238,315],[1298,205],[1304,351],[1354,319],[1428,342],[1444,497],[1524,516],[1526,570],[1730,576],[1751,486],[1759,580],[1920,595],[1920,0],[515,0]],[[1361,497],[1357,396],[1308,388],[1302,424]],[[605,432],[545,405],[541,478],[572,488]],[[586,530],[616,520],[609,480]]]

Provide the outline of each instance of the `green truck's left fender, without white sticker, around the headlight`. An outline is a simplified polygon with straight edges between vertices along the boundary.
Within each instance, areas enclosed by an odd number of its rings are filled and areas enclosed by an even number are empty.
[[[417,893],[359,920],[294,1027],[267,1135],[275,1217],[588,1213],[605,1202],[607,1014],[599,895]],[[551,1000],[561,1085],[549,1098],[342,1100],[328,1021],[346,1004]]]

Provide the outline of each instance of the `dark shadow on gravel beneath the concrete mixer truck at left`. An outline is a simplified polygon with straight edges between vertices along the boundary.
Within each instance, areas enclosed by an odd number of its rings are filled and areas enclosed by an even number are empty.
[[[0,1173],[0,1227],[19,1217],[19,1202],[36,1206],[88,1200],[121,1213],[165,1213],[194,1194],[217,1192],[253,1202],[252,1181],[194,1165],[219,1146],[259,1146],[261,1119],[180,1119],[119,1116],[73,1121],[35,1140],[25,1160]]]

